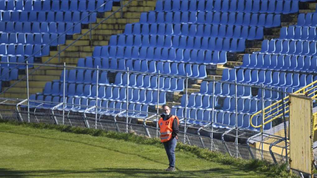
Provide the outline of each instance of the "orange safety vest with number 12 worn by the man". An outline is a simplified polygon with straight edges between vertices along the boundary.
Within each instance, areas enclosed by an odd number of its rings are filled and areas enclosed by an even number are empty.
[[[159,119],[159,128],[161,133],[161,142],[167,142],[172,138],[172,125],[174,119],[177,119],[177,123],[179,124],[179,120],[177,116],[172,116],[168,120],[163,120],[163,118]]]

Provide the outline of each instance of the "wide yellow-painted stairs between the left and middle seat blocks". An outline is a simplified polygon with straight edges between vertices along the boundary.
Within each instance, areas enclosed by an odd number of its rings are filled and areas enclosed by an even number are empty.
[[[123,5],[126,3],[128,3],[128,1],[122,2]],[[58,54],[59,50],[63,50],[66,46],[73,43],[75,39],[88,32],[90,27],[95,27],[98,23],[103,21],[100,26],[92,30],[91,33],[87,33],[72,46],[69,46],[64,52],[61,52],[60,55],[57,55],[48,62],[48,64],[56,65],[63,65],[65,62],[68,66],[76,66],[78,58],[92,56],[94,46],[108,45],[111,35],[123,33],[127,23],[139,22],[141,12],[154,10],[155,5],[156,1],[136,0],[122,9],[123,17],[121,17],[120,10],[105,21],[103,20],[109,15],[113,14],[113,12],[120,9],[120,7],[113,6],[112,11],[98,13],[96,23],[92,23],[91,26],[90,24],[82,25],[81,34],[67,35],[65,45],[60,45],[55,48],[53,47],[53,49],[51,48],[49,56],[42,57],[41,62],[44,63],[45,61],[49,60],[54,55]],[[32,70],[33,69],[30,69],[29,73]],[[52,80],[60,78],[62,70],[62,67],[41,67],[39,70],[29,75],[29,94],[31,95],[42,92],[46,82],[51,82]],[[23,71],[19,71],[19,74],[20,73],[21,75],[19,75],[19,79],[25,76]],[[15,82],[16,81],[10,81],[4,83],[3,90],[7,89]],[[0,97],[21,99],[27,98],[26,86],[26,81],[23,80],[17,83],[14,87],[7,90],[4,94],[1,94]]]

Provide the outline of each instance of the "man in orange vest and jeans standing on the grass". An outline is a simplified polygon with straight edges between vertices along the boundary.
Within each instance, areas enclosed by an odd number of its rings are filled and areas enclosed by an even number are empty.
[[[161,142],[169,160],[169,167],[165,171],[175,171],[175,147],[177,143],[179,120],[177,116],[171,115],[171,107],[163,105],[163,114],[159,119]]]

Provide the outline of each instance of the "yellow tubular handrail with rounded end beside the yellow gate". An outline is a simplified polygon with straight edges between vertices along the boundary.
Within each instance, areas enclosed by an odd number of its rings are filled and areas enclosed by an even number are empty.
[[[309,84],[306,85],[305,87],[303,87],[303,88],[301,88],[301,89],[295,91],[293,94],[296,94],[296,93],[303,93],[303,94],[305,94],[305,95],[314,94],[314,92],[313,92],[313,93],[310,93],[310,94],[308,94],[308,92],[311,91],[311,90],[313,90],[313,89],[315,89],[315,88],[317,88],[317,85],[316,85],[316,86],[313,86],[313,87],[310,88],[310,89],[307,89],[307,88],[309,88],[310,86],[314,85],[315,83],[317,83],[317,80],[314,81],[314,82],[312,82],[312,83],[309,83]],[[305,91],[305,89],[307,89],[307,90]],[[314,95],[314,96],[312,96],[311,98],[316,98],[316,96],[317,96],[317,95]],[[287,100],[287,99],[288,99],[288,96],[286,96],[286,97],[283,98],[284,101]],[[266,113],[270,113],[271,111],[275,110],[276,108],[281,107],[282,104],[281,104],[281,105],[278,105],[277,107],[273,107],[273,106],[275,106],[275,105],[277,105],[278,103],[281,103],[281,102],[282,102],[282,100],[279,100],[279,101],[277,101],[277,102],[275,102],[275,103],[273,103],[273,104],[271,104],[271,105],[269,105],[269,106],[263,108],[263,110],[260,110],[260,111],[258,111],[258,112],[256,112],[256,113],[254,113],[254,114],[250,117],[250,125],[251,125],[252,127],[254,127],[254,128],[262,127],[262,124],[261,124],[261,125],[258,125],[258,126],[253,125],[253,123],[252,123],[253,117],[256,116],[257,114],[260,114],[260,113],[262,113],[262,115],[265,116]],[[284,102],[284,105],[285,105],[285,108],[284,108],[284,109],[285,109],[285,112],[284,112],[284,113],[285,113],[285,114],[289,112],[289,110],[286,110],[286,108],[288,107],[288,106],[286,106],[286,104],[288,104],[288,101],[285,101],[285,102]],[[272,108],[272,107],[273,107],[273,108]],[[269,108],[271,108],[271,109],[268,110],[268,111],[266,111],[266,110],[269,109]],[[267,116],[267,117],[263,117],[263,120],[266,120],[266,119],[270,118],[272,115],[278,113],[278,112],[281,111],[281,110],[282,110],[282,109],[278,109],[275,113],[270,114],[270,115]],[[263,125],[266,125],[266,124],[272,122],[273,120],[277,119],[278,117],[281,117],[282,115],[283,115],[283,114],[278,114],[278,115],[276,115],[275,117],[272,117],[270,120],[267,120],[267,121],[263,122]],[[317,113],[315,113],[314,117],[317,117]],[[316,124],[317,124],[317,123],[316,123]],[[317,130],[317,128],[316,128],[316,130]]]

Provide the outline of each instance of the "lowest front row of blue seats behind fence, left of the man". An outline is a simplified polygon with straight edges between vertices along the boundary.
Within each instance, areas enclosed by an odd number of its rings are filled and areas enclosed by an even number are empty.
[[[44,99],[43,95],[37,95],[37,96],[31,95],[30,100],[31,100],[31,102],[29,103],[29,105],[31,105],[30,108],[51,108],[56,106],[58,103],[63,102],[64,98],[59,96],[54,96],[54,97],[46,96]],[[66,100],[66,105],[64,107],[65,111],[83,112],[85,109],[96,105],[95,100],[91,100],[87,98],[65,97],[65,100]],[[126,110],[126,103],[117,102],[117,101],[107,101],[107,100],[100,101],[99,100],[97,102],[97,106],[103,107],[103,108],[97,109],[98,113],[102,113],[106,115],[118,114],[120,112],[120,109]],[[26,106],[21,106],[21,107],[26,107]],[[60,107],[57,107],[57,109],[63,110],[63,105]],[[148,112],[148,105],[131,103],[128,105],[128,110],[129,110],[128,115],[130,117],[145,118],[147,117],[146,113]]]

